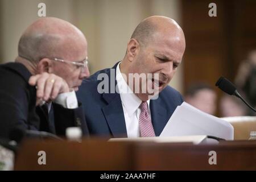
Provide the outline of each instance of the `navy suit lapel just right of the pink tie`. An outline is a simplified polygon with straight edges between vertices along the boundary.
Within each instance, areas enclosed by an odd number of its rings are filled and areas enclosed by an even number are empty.
[[[166,126],[166,123],[168,122],[167,110],[166,107],[160,104],[161,100],[162,99],[159,97],[157,100],[150,101],[151,121],[156,136],[159,136],[162,133],[164,126]],[[162,102],[162,104],[163,103],[164,102]]]

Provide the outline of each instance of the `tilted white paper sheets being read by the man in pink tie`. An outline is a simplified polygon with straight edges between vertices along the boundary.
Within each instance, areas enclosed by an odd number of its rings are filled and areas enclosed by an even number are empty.
[[[234,129],[229,122],[183,102],[177,106],[159,137],[187,135],[210,135],[233,140]]]

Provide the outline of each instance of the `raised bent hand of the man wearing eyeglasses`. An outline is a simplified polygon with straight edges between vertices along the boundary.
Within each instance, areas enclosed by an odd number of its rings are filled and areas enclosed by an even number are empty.
[[[68,84],[63,78],[46,72],[31,76],[28,84],[36,86],[36,97],[43,101],[53,101],[58,94],[70,92]]]

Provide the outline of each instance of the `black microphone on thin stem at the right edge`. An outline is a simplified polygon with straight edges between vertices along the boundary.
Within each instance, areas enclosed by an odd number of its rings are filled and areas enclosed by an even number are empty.
[[[237,92],[236,86],[232,82],[230,82],[228,79],[224,77],[218,78],[218,81],[216,82],[215,86],[218,86],[223,92],[228,93],[230,95],[234,95],[238,98],[240,98],[248,107],[250,107],[251,110],[256,112],[256,110],[250,106],[240,95],[240,93]]]

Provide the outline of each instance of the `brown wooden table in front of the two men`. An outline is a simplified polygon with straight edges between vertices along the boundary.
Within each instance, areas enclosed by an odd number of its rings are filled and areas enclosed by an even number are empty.
[[[38,164],[39,151],[46,165]],[[210,151],[217,164],[209,164]],[[212,161],[212,160],[211,160]],[[256,141],[191,143],[107,142],[81,143],[26,140],[15,160],[16,170],[256,170]]]

